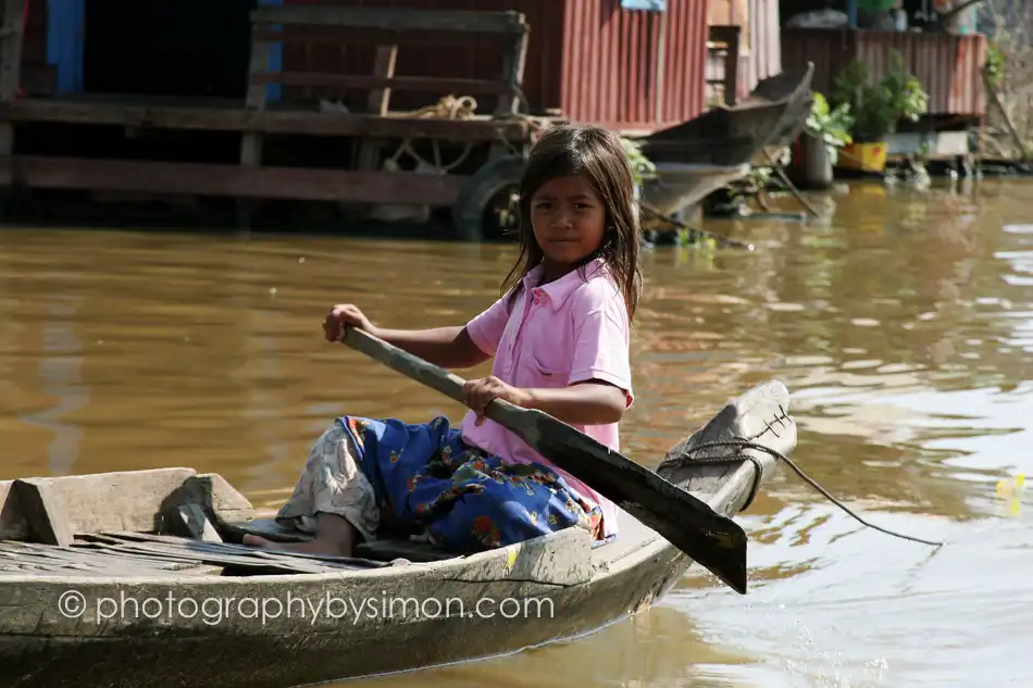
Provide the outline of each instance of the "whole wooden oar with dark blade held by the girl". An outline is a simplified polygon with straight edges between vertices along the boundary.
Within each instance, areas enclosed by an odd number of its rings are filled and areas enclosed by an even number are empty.
[[[464,380],[383,339],[345,327],[341,341],[462,402]],[[485,415],[592,486],[740,593],[746,592],[746,533],[676,485],[547,413],[495,400]]]

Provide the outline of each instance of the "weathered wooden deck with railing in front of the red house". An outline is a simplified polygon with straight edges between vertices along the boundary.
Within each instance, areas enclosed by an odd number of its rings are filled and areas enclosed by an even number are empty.
[[[11,7],[5,25],[14,27]],[[335,7],[260,7],[252,15],[251,65],[244,101],[170,103],[124,97],[17,99],[18,76],[0,72],[0,186],[32,189],[126,191],[144,195],[225,197],[253,208],[258,200],[327,201],[339,204],[453,205],[477,166],[493,151],[526,146],[533,124],[519,116],[528,27],[515,12],[441,12],[366,10]],[[494,34],[510,50],[496,80],[415,78],[394,73],[398,46],[378,48],[374,74],[290,73],[269,70],[274,43],[333,41],[341,28],[419,35],[449,30],[459,35]],[[22,34],[12,28],[0,37],[3,64],[16,64]],[[11,61],[8,61],[11,60]],[[267,85],[314,86],[321,92],[366,93],[365,112],[319,111],[312,103],[271,103]],[[427,113],[393,113],[391,91],[415,90],[432,97],[487,93],[495,97],[491,114],[444,118]],[[66,125],[88,137],[90,127],[124,127],[127,137],[144,130],[222,132],[239,135],[239,162],[126,160],[18,151],[20,127]],[[327,146],[351,153],[340,167],[285,166],[266,162],[271,137],[327,137]],[[345,139],[341,142],[341,139]],[[439,165],[436,173],[398,171],[385,165],[403,142],[452,147],[462,166]],[[344,146],[344,148],[340,148]],[[335,148],[334,150],[337,150]],[[345,153],[341,153],[345,154]],[[428,155],[437,159],[437,154]],[[441,158],[445,158],[441,155]],[[293,163],[294,164],[294,163]],[[385,168],[388,167],[388,168]],[[407,170],[408,167],[402,167]]]

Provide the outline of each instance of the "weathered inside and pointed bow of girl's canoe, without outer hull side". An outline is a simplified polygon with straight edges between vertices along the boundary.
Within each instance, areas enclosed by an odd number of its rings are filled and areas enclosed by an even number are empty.
[[[763,441],[788,453],[796,427],[787,415],[788,392],[777,381],[758,385],[729,403],[704,427],[673,447],[657,472],[734,515],[748,505],[772,455],[735,446],[699,448],[730,439]],[[699,461],[699,460],[706,461]],[[563,571],[535,568],[572,584],[598,567],[661,539],[630,513],[619,512],[619,537],[592,541],[587,531],[567,528],[521,543],[538,554],[527,559],[567,562]],[[363,572],[434,565],[461,559],[425,541],[389,535],[361,542],[353,556],[328,556],[242,545],[246,534],[282,542],[310,538],[275,518],[261,517],[222,476],[192,468],[28,477],[0,481],[0,580],[18,577],[258,576]],[[484,553],[491,556],[490,553]],[[473,554],[477,556],[478,554]],[[512,575],[521,574],[520,564]]]

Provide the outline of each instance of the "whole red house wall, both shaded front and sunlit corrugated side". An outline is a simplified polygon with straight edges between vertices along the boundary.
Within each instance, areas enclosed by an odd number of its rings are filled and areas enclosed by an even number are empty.
[[[773,0],[772,0],[773,1]],[[524,93],[535,109],[559,109],[578,122],[619,129],[654,129],[702,112],[709,0],[669,0],[664,13],[623,10],[620,0],[285,0],[289,4],[395,7],[438,10],[515,10],[531,25]],[[663,73],[657,93],[658,40]],[[288,45],[284,70],[370,74],[377,36],[341,34],[339,45]],[[438,39],[440,38],[440,40]],[[414,45],[414,43],[419,45]],[[399,42],[396,74],[498,78],[497,37],[462,43],[421,35]],[[319,98],[313,89],[285,89],[288,98]],[[444,93],[443,93],[444,95]],[[460,93],[456,93],[459,96]],[[433,93],[395,92],[391,109],[435,102]],[[482,99],[484,100],[484,99]],[[494,109],[484,100],[481,112]]]

